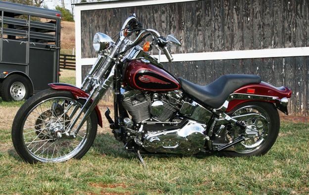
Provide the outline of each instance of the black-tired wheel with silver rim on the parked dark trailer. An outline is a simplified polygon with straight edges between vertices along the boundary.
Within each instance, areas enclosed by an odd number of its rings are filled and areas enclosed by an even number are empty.
[[[20,75],[5,78],[1,85],[1,97],[4,101],[20,101],[28,99],[31,94],[31,83]]]

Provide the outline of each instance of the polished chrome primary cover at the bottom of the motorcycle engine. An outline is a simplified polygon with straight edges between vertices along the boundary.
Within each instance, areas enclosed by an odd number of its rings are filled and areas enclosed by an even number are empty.
[[[152,131],[144,136],[145,150],[151,153],[193,155],[205,144],[205,124],[189,120],[182,128]]]

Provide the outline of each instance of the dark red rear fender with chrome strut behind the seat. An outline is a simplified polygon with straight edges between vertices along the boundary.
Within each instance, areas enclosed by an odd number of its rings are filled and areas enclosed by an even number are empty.
[[[284,114],[288,114],[288,99],[292,95],[292,90],[288,87],[274,87],[266,82],[245,85],[229,96],[229,103],[226,112],[230,112],[236,106],[250,101],[263,101],[275,104]],[[241,97],[241,98],[238,98]]]

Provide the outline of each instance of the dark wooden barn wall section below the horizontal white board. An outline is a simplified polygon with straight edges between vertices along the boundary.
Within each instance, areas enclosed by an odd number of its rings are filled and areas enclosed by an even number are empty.
[[[208,60],[163,64],[175,77],[186,78],[201,85],[206,85],[221,75],[226,74],[260,75],[265,82],[275,86],[285,85],[293,89],[293,96],[288,107],[290,115],[308,116],[309,114],[309,56]],[[91,66],[83,66],[83,79],[90,69]],[[111,98],[111,93],[107,93],[104,100],[110,101]]]

